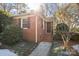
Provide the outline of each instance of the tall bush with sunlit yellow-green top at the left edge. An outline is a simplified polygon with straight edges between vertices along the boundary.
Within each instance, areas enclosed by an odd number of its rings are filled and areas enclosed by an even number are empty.
[[[0,10],[0,33],[4,30],[7,25],[10,25],[12,18],[9,12]]]

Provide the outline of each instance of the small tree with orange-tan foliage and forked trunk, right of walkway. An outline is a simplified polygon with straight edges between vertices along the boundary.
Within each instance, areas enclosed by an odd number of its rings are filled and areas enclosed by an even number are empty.
[[[68,4],[67,6],[64,6],[62,8],[59,8],[59,10],[55,13],[55,20],[57,20],[57,24],[60,23],[65,23],[68,27],[69,27],[69,31],[71,31],[71,29],[73,28],[74,25],[76,25],[78,23],[78,18],[79,18],[79,9],[78,6],[76,4]],[[63,29],[63,26],[61,26]],[[68,41],[70,40],[70,34],[66,33],[66,32],[61,32],[59,31],[59,33],[61,33],[60,35],[62,36],[64,45],[67,45]],[[68,39],[67,41],[64,41],[64,39]]]

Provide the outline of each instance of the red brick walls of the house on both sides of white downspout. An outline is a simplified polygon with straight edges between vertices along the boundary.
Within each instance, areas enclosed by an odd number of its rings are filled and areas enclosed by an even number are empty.
[[[14,17],[14,22],[16,24],[19,24],[19,18],[29,18],[30,20],[30,28],[28,29],[23,29],[23,38],[26,40],[26,41],[33,41],[35,42],[36,40],[36,15],[25,15],[25,16],[18,16],[18,17]],[[46,34],[44,35],[44,39],[41,38],[43,35],[43,32],[45,31],[46,32],[46,23],[45,23],[45,30],[43,31],[43,28],[42,28],[42,19],[37,16],[37,39],[38,39],[38,42],[40,41],[52,41],[51,39],[51,34]]]

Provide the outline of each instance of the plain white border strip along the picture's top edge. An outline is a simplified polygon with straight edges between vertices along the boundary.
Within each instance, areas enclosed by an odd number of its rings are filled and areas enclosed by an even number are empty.
[[[0,3],[78,3],[79,0],[0,0]]]

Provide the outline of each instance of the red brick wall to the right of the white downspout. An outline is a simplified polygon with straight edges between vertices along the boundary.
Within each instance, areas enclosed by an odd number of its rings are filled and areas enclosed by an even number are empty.
[[[43,19],[41,19],[40,17],[38,17],[37,19],[37,28],[38,28],[38,42],[41,42],[41,41],[46,41],[46,42],[51,42],[53,39],[52,39],[52,34],[51,33],[47,33],[47,23],[44,22],[44,30],[43,30],[43,27],[42,27],[42,23],[43,23]]]

